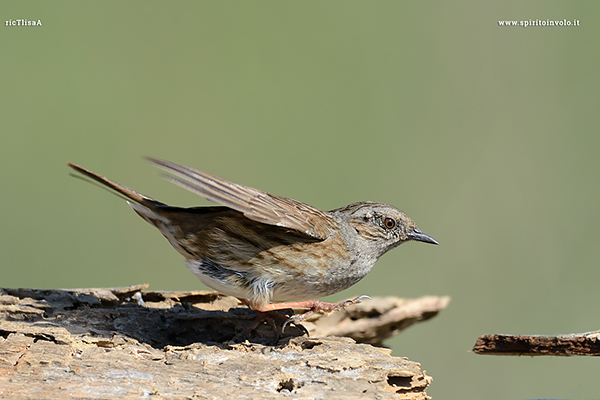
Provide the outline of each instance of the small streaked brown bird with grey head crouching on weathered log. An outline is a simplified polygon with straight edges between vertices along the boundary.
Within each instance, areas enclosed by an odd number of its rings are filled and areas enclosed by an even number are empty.
[[[389,204],[362,201],[321,211],[174,162],[147,160],[167,180],[220,205],[169,206],[79,165],[68,166],[124,196],[202,283],[237,297],[259,322],[276,311],[307,310],[286,319],[285,328],[315,312],[361,302],[369,297],[339,303],[317,299],[356,284],[379,257],[402,243],[438,244]]]

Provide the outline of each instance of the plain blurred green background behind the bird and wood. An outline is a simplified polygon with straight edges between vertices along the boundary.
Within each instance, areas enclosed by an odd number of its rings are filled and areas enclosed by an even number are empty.
[[[450,295],[388,342],[434,398],[597,399],[597,359],[470,349],[600,328],[598,4],[4,1],[0,286],[203,289],[66,167],[209,204],[155,156],[322,209],[407,212],[440,246],[405,244],[333,298]],[[19,18],[43,26],[4,26]],[[498,26],[536,18],[580,26]]]

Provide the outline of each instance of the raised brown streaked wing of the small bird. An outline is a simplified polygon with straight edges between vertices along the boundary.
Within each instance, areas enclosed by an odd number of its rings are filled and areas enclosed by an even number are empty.
[[[308,204],[238,185],[170,161],[148,160],[172,174],[164,175],[171,182],[209,201],[237,210],[251,220],[295,229],[318,239],[326,239],[337,227],[331,216]]]

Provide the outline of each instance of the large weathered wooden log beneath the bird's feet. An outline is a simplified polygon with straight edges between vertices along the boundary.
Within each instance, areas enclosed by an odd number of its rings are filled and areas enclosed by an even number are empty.
[[[233,340],[254,318],[235,298],[145,288],[0,289],[0,397],[425,399],[418,363],[355,340],[381,344],[449,301],[373,299],[274,344],[266,324]]]

